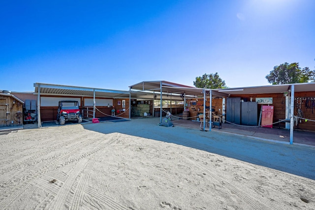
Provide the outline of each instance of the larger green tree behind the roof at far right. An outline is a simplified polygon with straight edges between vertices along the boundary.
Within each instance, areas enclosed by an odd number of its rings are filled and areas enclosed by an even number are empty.
[[[301,69],[298,62],[285,62],[275,66],[265,78],[273,85],[308,83],[315,79],[315,70],[312,71],[309,67]]]

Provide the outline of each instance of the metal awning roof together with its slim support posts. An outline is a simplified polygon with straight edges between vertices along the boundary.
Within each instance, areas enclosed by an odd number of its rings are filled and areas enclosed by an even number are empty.
[[[315,83],[299,83],[299,84],[284,84],[284,85],[270,85],[270,86],[257,86],[257,87],[244,87],[244,88],[228,88],[228,89],[200,89],[181,85],[167,81],[144,81],[135,85],[129,86],[129,91],[124,90],[106,90],[62,85],[51,85],[34,83],[35,91],[37,94],[37,114],[38,114],[38,127],[41,127],[40,121],[40,94],[48,95],[79,95],[85,97],[93,97],[95,108],[95,97],[109,97],[109,98],[129,98],[129,119],[131,98],[136,99],[151,99],[152,95],[160,94],[160,100],[167,99],[169,95],[177,98],[184,96],[184,109],[186,108],[187,98],[203,97],[204,104],[206,103],[207,95],[209,97],[230,97],[236,94],[261,94],[261,93],[287,93],[290,92],[290,144],[293,144],[293,123],[294,123],[294,94],[295,92],[315,91]],[[140,97],[139,97],[140,96]],[[164,97],[163,97],[164,96]],[[165,98],[166,97],[166,98]],[[175,99],[176,100],[176,99]],[[212,100],[210,100],[210,107],[212,107]],[[204,112],[205,116],[205,106]],[[210,126],[211,130],[211,112],[210,112]],[[95,116],[94,116],[95,117]],[[160,105],[160,122],[162,121],[162,103]],[[205,118],[204,118],[205,131]]]

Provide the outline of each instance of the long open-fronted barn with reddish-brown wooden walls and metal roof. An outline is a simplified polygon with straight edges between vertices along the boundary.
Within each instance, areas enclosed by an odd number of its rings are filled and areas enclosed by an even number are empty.
[[[261,124],[261,107],[263,105],[269,105],[273,106],[273,119],[271,121],[273,126],[281,125],[286,129],[290,129],[290,133],[293,129],[315,131],[315,83],[216,90],[199,89],[167,81],[140,82],[129,86],[129,91],[39,83],[34,84],[34,87],[34,94],[37,95],[39,104],[37,112],[40,121],[54,121],[56,119],[59,100],[78,100],[84,118],[91,116],[91,114],[89,114],[91,110],[93,118],[102,117],[104,115],[110,116],[112,109],[115,108],[115,110],[123,111],[120,117],[130,119],[131,103],[134,101],[148,100],[152,102],[156,99],[169,100],[168,98],[172,98],[172,100],[183,100],[183,111],[189,111],[189,116],[192,117],[192,120],[196,120],[199,114],[205,114],[203,109],[203,104],[205,104],[205,107],[209,110],[211,107],[211,113],[221,115],[223,120],[228,121],[227,119],[231,115],[229,101],[234,98],[234,101],[239,100],[243,105],[250,102],[257,103],[254,114],[251,113],[250,116],[245,117],[243,115],[243,119],[253,118],[254,122],[240,120],[236,124],[257,124],[259,126]],[[203,98],[205,98],[205,100]],[[209,98],[211,98],[211,100]],[[163,107],[162,103],[160,104],[158,111],[160,112],[159,117],[161,121]],[[148,110],[152,112],[151,114],[156,113],[156,110],[152,110],[151,107]],[[246,113],[246,110],[242,113]],[[241,119],[241,117],[239,118]],[[292,119],[294,119],[294,123]],[[283,123],[278,123],[281,120],[284,120]],[[292,136],[293,135],[290,134],[290,139],[292,139]]]

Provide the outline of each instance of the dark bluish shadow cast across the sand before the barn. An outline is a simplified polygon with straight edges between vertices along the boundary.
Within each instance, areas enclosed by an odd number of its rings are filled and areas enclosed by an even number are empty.
[[[189,128],[180,126],[175,120],[175,127],[158,126],[158,123],[159,118],[146,118],[82,126],[104,134],[117,132],[204,150],[315,180],[314,147],[280,144],[215,129],[203,132],[198,124]]]

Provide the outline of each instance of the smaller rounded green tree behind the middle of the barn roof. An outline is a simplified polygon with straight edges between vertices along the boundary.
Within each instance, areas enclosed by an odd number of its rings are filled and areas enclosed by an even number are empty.
[[[222,80],[217,73],[215,74],[204,74],[201,77],[196,77],[196,81],[193,82],[196,88],[206,88],[206,89],[221,89],[227,88],[225,86],[225,81]]]

